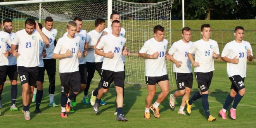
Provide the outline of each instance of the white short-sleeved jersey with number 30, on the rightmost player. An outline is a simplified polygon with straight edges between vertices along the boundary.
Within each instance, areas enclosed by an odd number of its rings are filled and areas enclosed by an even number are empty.
[[[228,77],[234,75],[240,75],[242,78],[246,77],[247,49],[251,51],[251,55],[253,56],[253,50],[250,43],[244,40],[242,40],[242,43],[237,43],[233,40],[225,45],[221,57],[234,59],[234,57],[237,56],[239,59],[238,64],[227,63]]]

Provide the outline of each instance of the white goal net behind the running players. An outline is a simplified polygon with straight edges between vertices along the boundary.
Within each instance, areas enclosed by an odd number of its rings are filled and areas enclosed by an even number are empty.
[[[121,16],[122,27],[126,30],[126,45],[131,53],[130,56],[126,57],[125,62],[126,83],[145,85],[145,60],[138,57],[138,51],[145,41],[154,36],[154,26],[161,25],[165,28],[164,38],[169,42],[167,50],[170,49],[172,3],[173,0],[159,3],[112,1],[112,12],[118,12]],[[57,40],[66,32],[66,23],[72,21],[76,16],[83,19],[82,29],[89,32],[94,29],[96,18],[106,19],[107,22],[107,0],[76,0],[0,6],[0,18],[2,20],[5,18],[12,19],[13,32],[24,29],[24,22],[29,17],[43,24],[47,16],[54,19],[54,28],[58,30]],[[59,78],[58,62],[57,78]],[[172,63],[168,61],[166,66],[170,86],[173,86]],[[93,80],[100,80],[97,72],[95,72]]]

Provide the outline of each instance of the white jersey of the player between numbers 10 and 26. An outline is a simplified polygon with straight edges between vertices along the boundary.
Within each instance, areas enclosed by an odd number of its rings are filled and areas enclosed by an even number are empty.
[[[189,41],[189,43],[184,43],[182,40],[174,42],[173,45],[171,45],[168,54],[173,55],[173,58],[177,61],[182,61],[180,67],[176,67],[176,64],[173,63],[173,71],[175,73],[192,73],[191,61],[187,56],[191,45],[192,42]]]

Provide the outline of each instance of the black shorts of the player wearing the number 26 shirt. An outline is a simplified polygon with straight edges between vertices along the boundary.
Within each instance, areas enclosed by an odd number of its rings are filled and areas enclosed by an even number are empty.
[[[201,90],[201,92],[206,92],[209,90],[212,78],[213,71],[210,71],[208,73],[195,72],[195,79],[197,81],[198,88]]]

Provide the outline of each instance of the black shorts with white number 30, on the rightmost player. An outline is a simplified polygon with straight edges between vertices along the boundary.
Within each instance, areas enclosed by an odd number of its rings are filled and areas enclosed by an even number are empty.
[[[240,75],[235,75],[229,77],[229,80],[231,81],[231,87],[230,89],[234,89],[235,92],[239,92],[241,89],[245,88],[244,86],[244,78],[242,78]]]

